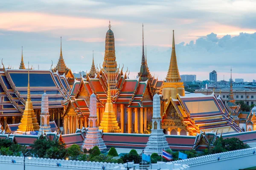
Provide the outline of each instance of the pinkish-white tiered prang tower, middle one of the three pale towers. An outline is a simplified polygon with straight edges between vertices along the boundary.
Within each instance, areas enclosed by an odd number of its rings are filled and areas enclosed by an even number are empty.
[[[87,133],[84,139],[82,148],[87,150],[92,149],[94,146],[98,146],[99,150],[102,151],[107,149],[102,137],[101,131],[98,127],[98,117],[97,117],[97,99],[96,95],[92,94],[90,96],[90,116],[89,116],[89,126],[87,128]]]

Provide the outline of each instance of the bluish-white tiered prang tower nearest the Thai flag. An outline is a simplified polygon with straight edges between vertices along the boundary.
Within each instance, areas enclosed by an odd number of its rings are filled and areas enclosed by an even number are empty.
[[[162,155],[163,150],[170,149],[164,136],[162,129],[162,118],[160,113],[160,96],[154,95],[153,98],[153,118],[152,118],[152,129],[148,138],[147,146],[145,147],[144,153],[151,155],[157,153]]]

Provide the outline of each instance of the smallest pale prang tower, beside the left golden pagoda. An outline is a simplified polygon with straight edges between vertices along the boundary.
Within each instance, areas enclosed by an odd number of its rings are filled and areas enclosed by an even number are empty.
[[[41,104],[41,125],[40,132],[50,132],[51,128],[49,125],[49,103],[48,103],[48,95],[44,93],[42,95],[42,104]]]

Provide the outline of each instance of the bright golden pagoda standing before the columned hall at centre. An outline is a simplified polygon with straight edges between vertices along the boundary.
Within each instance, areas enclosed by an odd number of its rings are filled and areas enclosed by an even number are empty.
[[[116,121],[116,114],[114,112],[113,104],[111,102],[111,93],[109,85],[109,74],[108,74],[108,99],[105,105],[105,111],[102,115],[102,121],[100,122],[99,129],[102,129],[105,133],[120,133],[121,130]]]

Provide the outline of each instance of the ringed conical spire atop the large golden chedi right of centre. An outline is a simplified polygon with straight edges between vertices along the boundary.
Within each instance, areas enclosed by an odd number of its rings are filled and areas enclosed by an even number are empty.
[[[175,52],[174,30],[172,36],[172,56],[170,60],[169,70],[166,76],[166,82],[180,82],[180,73],[177,65],[177,58]]]

